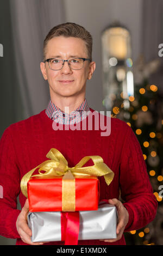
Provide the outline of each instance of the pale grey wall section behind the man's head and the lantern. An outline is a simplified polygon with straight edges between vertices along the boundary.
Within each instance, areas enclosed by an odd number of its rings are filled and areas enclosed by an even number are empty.
[[[84,26],[93,36],[93,60],[96,71],[87,82],[86,99],[97,111],[103,111],[101,72],[101,32],[114,21],[126,26],[132,38],[133,61],[141,52],[141,17],[143,0],[64,0],[66,22]]]

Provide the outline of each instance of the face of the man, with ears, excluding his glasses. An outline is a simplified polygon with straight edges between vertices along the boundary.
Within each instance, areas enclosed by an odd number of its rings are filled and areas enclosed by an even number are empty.
[[[57,36],[48,41],[46,59],[87,58],[84,40],[65,36]],[[41,62],[41,71],[45,80],[48,80],[51,98],[55,96],[74,96],[85,92],[86,80],[91,79],[95,71],[95,62],[86,60],[80,70],[73,70],[67,62],[61,70],[49,69],[48,63]]]

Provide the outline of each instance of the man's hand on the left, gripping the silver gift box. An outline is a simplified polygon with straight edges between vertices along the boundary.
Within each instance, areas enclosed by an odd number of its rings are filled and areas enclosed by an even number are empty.
[[[17,228],[18,234],[20,234],[20,237],[24,243],[28,243],[29,245],[43,245],[43,242],[32,242],[30,239],[30,236],[32,236],[32,231],[30,230],[27,224],[28,211],[29,211],[29,203],[27,199],[26,203],[22,208],[22,211],[17,217],[16,228]]]

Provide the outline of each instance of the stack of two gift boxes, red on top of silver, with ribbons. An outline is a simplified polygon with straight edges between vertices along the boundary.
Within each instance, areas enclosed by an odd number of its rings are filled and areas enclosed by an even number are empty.
[[[21,181],[22,193],[29,200],[32,241],[77,245],[78,240],[116,238],[116,208],[99,202],[98,176],[104,175],[108,185],[114,177],[102,157],[86,156],[69,168],[57,149],[46,156],[51,160],[30,170]],[[94,165],[83,167],[90,159]]]

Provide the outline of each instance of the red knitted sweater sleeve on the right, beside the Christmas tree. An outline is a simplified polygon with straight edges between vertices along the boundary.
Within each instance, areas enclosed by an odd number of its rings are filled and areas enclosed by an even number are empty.
[[[124,231],[136,230],[152,222],[158,203],[153,194],[140,143],[128,126],[120,164],[120,188],[129,221]]]

